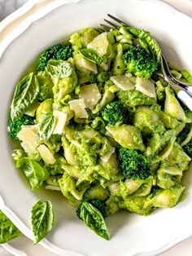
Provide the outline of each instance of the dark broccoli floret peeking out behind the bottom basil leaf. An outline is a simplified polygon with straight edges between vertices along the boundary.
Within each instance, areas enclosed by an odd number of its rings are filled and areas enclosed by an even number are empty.
[[[99,199],[87,199],[87,198],[84,198],[80,205],[78,206],[77,210],[76,210],[76,214],[79,218],[80,217],[80,213],[81,213],[81,205],[83,204],[83,202],[88,202],[89,204],[93,205],[95,208],[97,208],[100,213],[103,215],[103,218],[106,218],[108,216],[107,214],[107,205],[104,201],[101,201]]]

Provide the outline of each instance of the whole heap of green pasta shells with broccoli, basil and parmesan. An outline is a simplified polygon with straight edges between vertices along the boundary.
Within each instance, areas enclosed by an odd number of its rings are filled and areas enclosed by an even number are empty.
[[[88,28],[67,45],[42,52],[37,70],[16,86],[10,124],[20,123],[11,136],[20,149],[13,158],[32,189],[46,183],[62,192],[108,240],[106,216],[120,209],[148,215],[185,198],[192,113],[159,75],[160,48],[150,33]],[[185,69],[172,75],[191,80]],[[25,115],[30,125],[21,124]]]

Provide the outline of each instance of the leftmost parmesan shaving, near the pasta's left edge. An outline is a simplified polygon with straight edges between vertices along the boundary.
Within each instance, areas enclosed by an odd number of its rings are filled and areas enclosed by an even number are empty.
[[[22,141],[21,146],[28,153],[37,152],[37,126],[22,126],[17,137]]]

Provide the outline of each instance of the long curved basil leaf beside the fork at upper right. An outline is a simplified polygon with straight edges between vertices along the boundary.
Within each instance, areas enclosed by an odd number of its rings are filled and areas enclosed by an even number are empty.
[[[151,34],[143,29],[135,29],[133,27],[126,27],[126,29],[130,33],[132,33],[135,37],[142,39],[142,44],[146,42],[146,44],[149,46],[149,49],[154,59],[156,60],[157,63],[159,63],[161,49],[159,47],[159,44],[156,42],[156,40],[151,37]]]

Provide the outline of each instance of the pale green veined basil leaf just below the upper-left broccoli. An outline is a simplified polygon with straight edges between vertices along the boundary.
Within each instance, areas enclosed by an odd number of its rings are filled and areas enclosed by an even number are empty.
[[[46,66],[46,72],[51,77],[66,78],[72,74],[72,66],[68,61],[64,60],[50,60]]]

